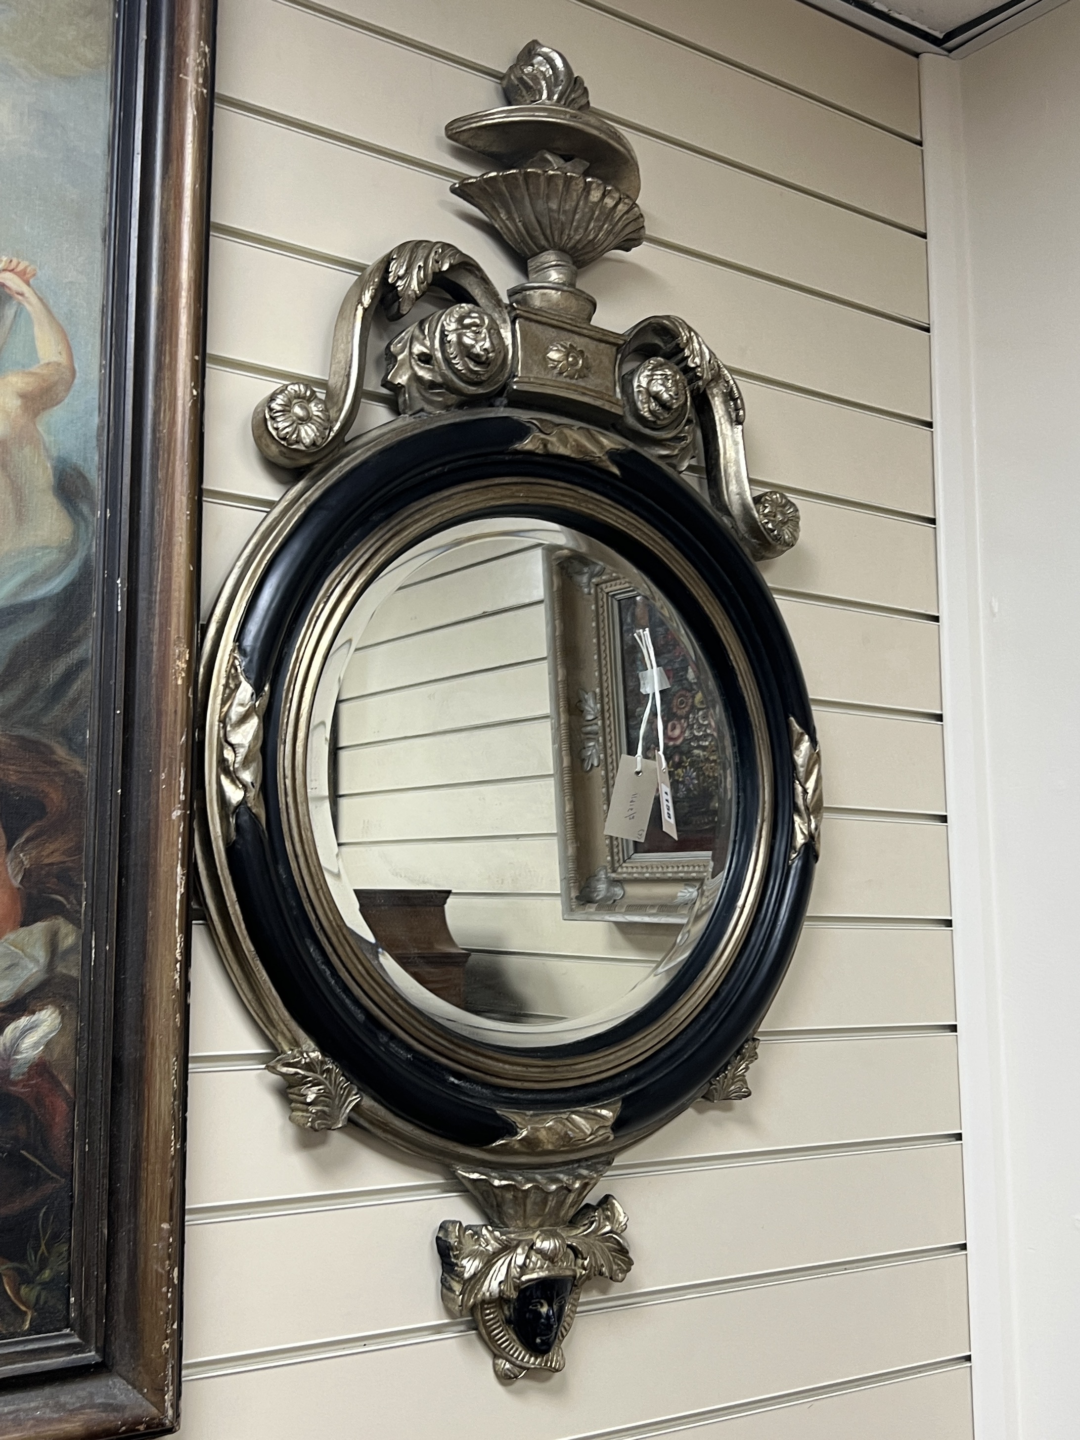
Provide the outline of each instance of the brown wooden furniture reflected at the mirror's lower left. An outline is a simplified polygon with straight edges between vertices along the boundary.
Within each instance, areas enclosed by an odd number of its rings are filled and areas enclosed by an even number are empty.
[[[465,1004],[462,950],[446,924],[449,890],[357,890],[360,914],[379,945],[415,981],[451,1005]]]

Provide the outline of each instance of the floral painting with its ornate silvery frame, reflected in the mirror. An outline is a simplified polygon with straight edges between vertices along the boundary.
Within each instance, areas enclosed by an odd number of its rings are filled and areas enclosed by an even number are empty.
[[[563,914],[670,924],[723,870],[730,845],[732,743],[721,698],[698,675],[691,645],[662,600],[641,593],[602,559],[549,557],[544,592]],[[662,672],[658,711],[644,688],[635,639],[644,632]],[[641,742],[642,756],[652,759],[661,730],[675,834],[664,829],[660,796],[642,840],[605,834],[619,757],[636,753]]]

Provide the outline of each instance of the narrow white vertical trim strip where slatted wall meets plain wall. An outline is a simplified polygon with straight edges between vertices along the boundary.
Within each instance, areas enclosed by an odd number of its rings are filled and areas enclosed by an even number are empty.
[[[994,904],[962,62],[919,58],[945,770],[978,1440],[1018,1440],[1005,1045]]]

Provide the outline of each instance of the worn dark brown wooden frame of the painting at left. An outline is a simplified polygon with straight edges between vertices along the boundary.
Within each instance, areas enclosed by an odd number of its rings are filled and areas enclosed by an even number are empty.
[[[30,1333],[26,1267],[4,1261],[7,1297],[27,1313],[27,1333],[0,1339],[7,1440],[170,1431],[180,1385],[213,0],[120,0],[104,14],[101,353],[76,348],[73,363],[101,384],[69,1303],[66,1326]]]

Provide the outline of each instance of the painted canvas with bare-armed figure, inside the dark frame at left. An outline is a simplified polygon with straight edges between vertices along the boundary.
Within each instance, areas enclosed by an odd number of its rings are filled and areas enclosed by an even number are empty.
[[[0,1338],[68,1325],[111,45],[0,7]]]

